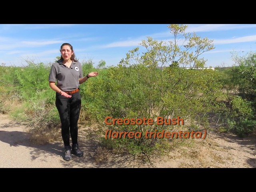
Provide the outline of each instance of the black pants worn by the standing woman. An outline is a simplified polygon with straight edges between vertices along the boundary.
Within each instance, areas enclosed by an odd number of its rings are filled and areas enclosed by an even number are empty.
[[[56,108],[60,114],[61,135],[64,146],[70,145],[70,136],[72,144],[77,144],[78,138],[78,118],[81,109],[80,92],[72,94],[71,98],[66,98],[56,93]]]

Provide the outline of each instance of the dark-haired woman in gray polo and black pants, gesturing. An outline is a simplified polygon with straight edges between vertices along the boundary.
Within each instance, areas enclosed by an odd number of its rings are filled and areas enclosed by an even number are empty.
[[[82,65],[76,60],[73,47],[69,43],[60,46],[61,58],[52,64],[49,74],[49,86],[56,92],[56,108],[61,122],[61,134],[64,142],[65,160],[71,160],[72,154],[78,157],[83,152],[78,147],[78,118],[81,109],[79,85],[88,78],[95,77],[98,72],[90,72],[82,76]],[[57,83],[55,83],[57,81]],[[70,136],[72,147],[70,146]]]

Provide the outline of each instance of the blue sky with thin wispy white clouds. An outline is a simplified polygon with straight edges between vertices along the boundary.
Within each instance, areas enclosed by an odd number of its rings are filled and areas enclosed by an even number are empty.
[[[172,40],[169,24],[0,24],[0,64],[24,66],[54,62],[60,45],[72,44],[79,61],[100,60],[116,66],[126,53],[150,36]],[[242,56],[256,52],[256,24],[186,24],[186,32],[214,40],[214,50],[205,52],[206,66],[232,66],[232,52]]]

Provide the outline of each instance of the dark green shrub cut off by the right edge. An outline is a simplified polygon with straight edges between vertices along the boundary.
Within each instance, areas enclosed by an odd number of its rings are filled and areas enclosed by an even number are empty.
[[[236,66],[225,70],[224,84],[230,94],[222,122],[227,131],[246,136],[256,129],[256,54],[236,56],[235,61]]]

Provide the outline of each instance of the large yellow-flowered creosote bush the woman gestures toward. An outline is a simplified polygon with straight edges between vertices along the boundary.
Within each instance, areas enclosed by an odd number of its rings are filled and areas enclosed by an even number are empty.
[[[208,128],[208,112],[223,107],[219,102],[225,99],[219,73],[213,70],[187,70],[184,65],[203,67],[205,60],[200,54],[213,48],[207,38],[200,39],[195,34],[186,36],[186,27],[170,25],[174,38],[184,35],[184,46],[176,41],[157,42],[152,38],[142,41],[146,49],[140,55],[139,48],[126,54],[118,66],[112,66],[93,80],[86,82],[84,96],[88,97],[85,106],[91,118],[106,130],[115,132],[141,132],[141,137],[110,138],[102,137],[108,147],[129,152],[134,155],[150,155],[167,149],[171,139],[145,138],[146,131],[199,130]],[[185,43],[187,41],[187,44]],[[195,48],[200,47],[200,48]],[[184,49],[184,50],[183,50]],[[189,53],[196,50],[196,54]],[[159,67],[160,66],[160,67]],[[90,98],[90,99],[89,99]],[[184,119],[180,125],[106,125],[106,117]],[[186,126],[185,126],[186,124]],[[161,151],[162,152],[162,151]]]

